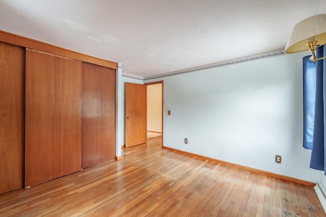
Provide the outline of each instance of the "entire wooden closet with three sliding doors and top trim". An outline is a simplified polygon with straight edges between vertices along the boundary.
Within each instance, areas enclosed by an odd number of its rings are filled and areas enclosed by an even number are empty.
[[[0,30],[0,194],[115,159],[116,69]]]

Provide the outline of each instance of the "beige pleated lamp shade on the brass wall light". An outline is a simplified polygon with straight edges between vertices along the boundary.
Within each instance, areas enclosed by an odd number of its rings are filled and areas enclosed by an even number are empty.
[[[318,14],[297,23],[286,44],[286,53],[309,50],[307,44],[317,41],[317,46],[326,44],[326,14]]]

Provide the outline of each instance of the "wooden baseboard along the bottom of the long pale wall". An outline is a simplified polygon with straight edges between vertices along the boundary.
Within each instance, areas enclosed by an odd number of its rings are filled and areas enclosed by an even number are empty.
[[[187,152],[187,151],[183,151],[183,150],[179,150],[179,149],[175,149],[175,148],[171,148],[171,147],[167,147],[167,146],[162,146],[162,148],[170,150],[170,151],[183,153],[183,154],[186,154],[187,156],[191,156],[191,157],[194,157],[194,158],[200,158],[200,159],[203,159],[203,160],[218,162],[218,163],[222,163],[222,164],[229,165],[229,166],[232,166],[232,167],[237,167],[239,169],[247,170],[247,171],[254,172],[254,173],[259,173],[259,174],[274,177],[274,178],[279,178],[279,179],[283,179],[283,180],[287,180],[287,181],[292,181],[292,182],[295,182],[295,183],[304,184],[304,185],[308,185],[308,186],[312,186],[312,187],[314,187],[316,185],[316,183],[314,183],[314,182],[305,181],[305,180],[302,180],[302,179],[293,178],[293,177],[290,177],[290,176],[281,175],[281,174],[268,172],[268,171],[264,171],[264,170],[259,170],[259,169],[255,169],[255,168],[251,168],[251,167],[247,167],[247,166],[242,166],[242,165],[230,163],[230,162],[227,162],[227,161],[221,161],[221,160],[218,160],[218,159],[201,156],[199,154],[195,154],[195,153],[191,153],[191,152]]]

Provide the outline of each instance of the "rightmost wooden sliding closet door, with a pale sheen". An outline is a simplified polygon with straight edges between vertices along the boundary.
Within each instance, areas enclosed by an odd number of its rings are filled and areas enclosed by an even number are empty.
[[[83,63],[82,167],[114,160],[116,70]]]

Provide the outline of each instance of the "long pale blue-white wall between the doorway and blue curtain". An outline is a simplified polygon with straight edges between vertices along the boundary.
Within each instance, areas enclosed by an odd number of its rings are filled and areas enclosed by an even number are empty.
[[[309,168],[311,151],[302,147],[302,57],[308,54],[147,80],[164,80],[164,145],[319,182],[319,171]]]

